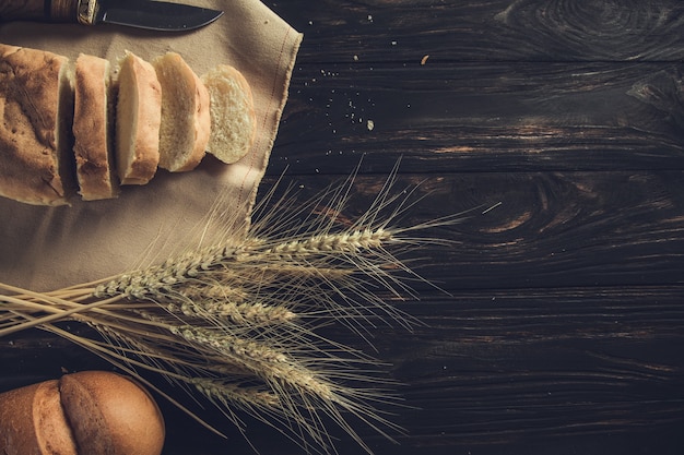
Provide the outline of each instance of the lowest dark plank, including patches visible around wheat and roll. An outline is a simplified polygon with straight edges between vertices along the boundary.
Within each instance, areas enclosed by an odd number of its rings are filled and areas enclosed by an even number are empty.
[[[554,453],[568,447],[640,453],[636,447],[664,446],[659,453],[674,454],[665,442],[682,442],[674,433],[684,411],[682,290],[425,291],[422,301],[397,302],[423,325],[411,332],[379,325],[372,342],[375,355],[392,364],[390,376],[405,384],[400,393],[406,407],[389,410],[409,433],[396,446],[368,429],[359,431],[378,453],[541,454],[544,447],[557,448]],[[345,331],[326,334],[364,347]],[[24,337],[0,347],[25,360],[23,366],[11,357],[0,362],[12,364],[16,383],[38,380],[40,371],[49,376],[60,367],[73,371],[97,364],[49,337]],[[172,428],[184,422],[182,432],[169,432],[165,453],[225,450],[224,440],[205,434],[166,404],[163,408]],[[220,420],[211,409],[204,415]],[[268,435],[256,441],[268,453],[299,453],[269,429],[250,424],[250,431]],[[247,453],[239,434],[228,428],[228,435],[232,450]],[[663,435],[669,440],[658,441]],[[359,453],[343,438],[340,444],[341,453]]]

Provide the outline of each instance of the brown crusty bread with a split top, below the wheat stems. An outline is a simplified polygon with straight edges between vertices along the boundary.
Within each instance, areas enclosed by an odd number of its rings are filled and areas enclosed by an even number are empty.
[[[164,436],[150,394],[119,374],[67,374],[0,394],[3,455],[160,455]]]

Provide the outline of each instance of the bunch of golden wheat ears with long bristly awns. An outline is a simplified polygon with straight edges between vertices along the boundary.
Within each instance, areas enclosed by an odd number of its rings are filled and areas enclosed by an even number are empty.
[[[379,362],[326,339],[318,327],[342,323],[364,337],[376,316],[410,326],[409,316],[379,297],[381,289],[411,295],[405,279],[422,279],[397,254],[439,242],[413,232],[462,219],[399,226],[398,218],[411,208],[411,191],[392,194],[394,179],[393,172],[353,221],[341,215],[350,178],[304,204],[308,212],[297,208],[296,197],[281,197],[243,235],[235,235],[241,229],[216,209],[212,223],[228,226],[225,232],[211,241],[201,238],[160,264],[49,292],[0,284],[0,336],[37,327],[64,337],[216,432],[143,372],[196,391],[240,431],[244,411],[306,452],[329,453],[334,448],[322,423],[328,416],[372,453],[346,416],[388,438],[388,431],[399,430],[375,406],[393,403],[391,394],[350,385],[374,385],[372,370]],[[99,337],[75,335],[56,326],[58,321],[87,324]]]

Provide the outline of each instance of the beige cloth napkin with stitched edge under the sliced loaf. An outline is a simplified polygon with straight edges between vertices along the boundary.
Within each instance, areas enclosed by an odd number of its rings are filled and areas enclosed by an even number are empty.
[[[37,207],[0,197],[0,282],[51,290],[161,262],[191,241],[220,200],[221,209],[249,218],[287,97],[302,35],[259,0],[185,0],[225,14],[199,31],[170,34],[120,26],[0,24],[0,43],[109,59],[125,50],[153,59],[180,53],[198,74],[228,63],[249,81],[257,139],[239,163],[211,157],[191,172],[160,170],[143,187],[123,187],[116,200]],[[1,151],[0,151],[1,153]],[[1,158],[1,157],[0,157]]]

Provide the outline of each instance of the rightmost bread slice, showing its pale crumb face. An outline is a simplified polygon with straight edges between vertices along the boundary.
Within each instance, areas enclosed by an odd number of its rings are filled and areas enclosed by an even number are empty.
[[[208,152],[232,164],[247,155],[255,142],[257,118],[251,88],[235,68],[222,64],[202,76],[211,98]]]

